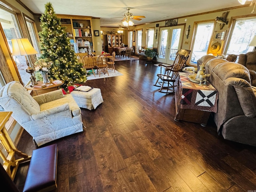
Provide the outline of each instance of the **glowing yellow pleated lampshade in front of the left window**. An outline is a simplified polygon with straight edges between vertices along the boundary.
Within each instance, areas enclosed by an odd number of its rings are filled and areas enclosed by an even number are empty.
[[[12,39],[12,55],[11,56],[21,56],[21,55],[35,55],[38,52],[34,49],[27,38]]]

